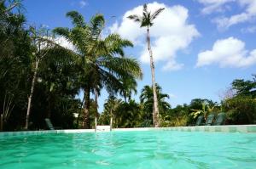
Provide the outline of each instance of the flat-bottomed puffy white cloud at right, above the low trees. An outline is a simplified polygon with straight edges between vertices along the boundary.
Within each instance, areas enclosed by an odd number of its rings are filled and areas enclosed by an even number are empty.
[[[220,67],[248,67],[256,64],[256,49],[248,52],[245,43],[235,37],[214,42],[212,50],[198,54],[197,67],[203,65]]]

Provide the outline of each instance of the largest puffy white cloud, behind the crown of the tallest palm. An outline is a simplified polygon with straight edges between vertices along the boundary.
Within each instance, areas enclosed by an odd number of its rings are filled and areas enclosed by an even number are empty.
[[[154,61],[165,61],[164,70],[179,70],[183,64],[176,62],[177,51],[187,48],[195,37],[199,36],[195,25],[189,25],[189,11],[183,6],[166,6],[164,3],[148,3],[148,9],[154,12],[158,8],[165,10],[154,20],[151,27],[150,36]],[[109,29],[118,32],[121,37],[127,38],[135,44],[142,44],[143,51],[140,59],[143,63],[149,63],[148,49],[146,47],[146,29],[140,28],[138,23],[127,19],[131,14],[141,15],[143,6],[138,6],[127,11],[122,22],[114,23]]]

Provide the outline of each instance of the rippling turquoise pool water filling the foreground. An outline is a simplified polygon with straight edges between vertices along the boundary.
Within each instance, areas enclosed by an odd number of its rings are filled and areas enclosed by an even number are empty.
[[[0,137],[0,168],[256,168],[256,134],[148,131]]]

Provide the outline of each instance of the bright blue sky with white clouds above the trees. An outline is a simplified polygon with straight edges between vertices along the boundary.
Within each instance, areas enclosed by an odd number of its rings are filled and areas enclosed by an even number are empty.
[[[137,95],[151,85],[146,30],[127,19],[142,14],[148,3],[152,13],[164,11],[150,29],[156,82],[170,96],[172,107],[189,104],[191,99],[220,101],[220,95],[234,79],[252,79],[256,73],[256,1],[255,0],[24,0],[28,25],[72,27],[65,14],[77,10],[85,21],[104,14],[104,35],[119,33],[131,40],[126,56],[137,59],[143,80],[137,81]],[[65,43],[65,42],[64,42]],[[67,43],[65,43],[67,45]],[[80,95],[82,97],[82,95]],[[99,98],[101,112],[108,93]]]

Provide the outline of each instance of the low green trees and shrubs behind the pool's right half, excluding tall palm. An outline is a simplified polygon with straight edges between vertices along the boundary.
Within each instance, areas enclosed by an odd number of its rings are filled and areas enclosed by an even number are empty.
[[[226,124],[256,124],[256,75],[252,81],[236,79],[231,87],[222,93],[221,103],[209,99],[192,99],[189,104],[177,105],[171,108],[166,102],[168,95],[162,93],[157,85],[157,96],[160,106],[160,126],[192,126],[198,115],[225,112]],[[153,92],[152,88],[143,87],[140,95],[141,102],[110,97],[104,104],[101,122],[108,123],[113,116],[115,127],[152,127]]]

